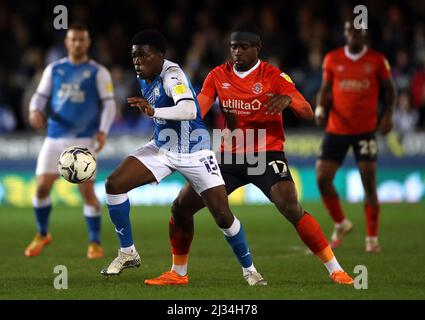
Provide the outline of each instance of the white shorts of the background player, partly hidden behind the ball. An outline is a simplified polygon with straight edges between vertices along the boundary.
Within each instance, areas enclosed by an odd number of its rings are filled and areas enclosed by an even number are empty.
[[[40,153],[38,154],[35,174],[59,174],[58,161],[61,153],[68,147],[79,146],[89,149],[93,154],[92,138],[50,138],[44,140]]]

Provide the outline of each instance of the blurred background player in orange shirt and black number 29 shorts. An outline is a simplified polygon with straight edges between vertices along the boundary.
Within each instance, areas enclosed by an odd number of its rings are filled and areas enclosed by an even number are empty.
[[[353,228],[345,217],[333,186],[336,171],[347,151],[353,147],[365,190],[366,251],[378,252],[379,203],[376,191],[375,131],[382,134],[392,128],[396,90],[385,57],[368,48],[366,30],[345,22],[346,45],[329,52],[323,63],[323,82],[317,96],[316,123],[322,125],[329,113],[326,133],[316,163],[317,181],[323,202],[335,222],[331,246],[341,245]],[[384,91],[384,112],[379,119],[379,88]],[[328,103],[328,98],[332,102]],[[327,106],[331,105],[329,110]]]

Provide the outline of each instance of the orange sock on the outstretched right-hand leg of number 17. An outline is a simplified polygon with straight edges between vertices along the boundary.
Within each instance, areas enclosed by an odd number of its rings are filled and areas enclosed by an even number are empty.
[[[314,254],[317,255],[329,246],[322,228],[320,228],[316,219],[307,211],[304,211],[304,215],[300,221],[298,221],[296,229],[302,241]]]

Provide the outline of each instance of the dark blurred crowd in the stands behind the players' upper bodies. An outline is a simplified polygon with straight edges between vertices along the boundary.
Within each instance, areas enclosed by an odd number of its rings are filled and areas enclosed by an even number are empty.
[[[195,87],[214,66],[229,58],[228,31],[241,21],[260,27],[261,57],[280,67],[315,105],[321,64],[327,51],[344,44],[343,22],[353,1],[73,1],[63,3],[69,23],[82,22],[91,33],[90,56],[112,74],[118,115],[112,133],[150,134],[151,120],[126,104],[137,95],[130,59],[132,36],[144,28],[162,31],[167,58],[179,63]],[[392,66],[398,88],[394,125],[400,134],[425,129],[425,5],[423,0],[363,1],[369,39]],[[55,30],[55,1],[0,2],[0,133],[29,130],[28,103],[44,67],[63,56],[64,30]],[[217,106],[208,125],[219,125]],[[313,126],[290,111],[286,126]]]

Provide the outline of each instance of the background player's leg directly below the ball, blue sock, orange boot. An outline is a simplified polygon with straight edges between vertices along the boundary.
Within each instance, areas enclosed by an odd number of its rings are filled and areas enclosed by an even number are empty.
[[[83,213],[87,223],[89,233],[89,245],[87,248],[87,258],[102,258],[103,248],[100,245],[100,223],[102,211],[99,200],[94,192],[94,181],[89,180],[79,186],[81,196],[83,197]]]

